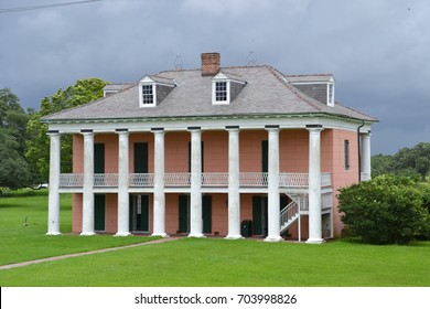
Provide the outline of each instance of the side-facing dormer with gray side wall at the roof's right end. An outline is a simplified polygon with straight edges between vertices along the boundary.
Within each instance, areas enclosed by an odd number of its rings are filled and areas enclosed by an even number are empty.
[[[334,107],[334,76],[332,74],[287,75],[287,81],[305,95]]]

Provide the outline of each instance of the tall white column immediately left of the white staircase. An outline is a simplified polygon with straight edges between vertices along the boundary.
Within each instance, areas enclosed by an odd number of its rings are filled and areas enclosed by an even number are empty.
[[[268,235],[266,242],[280,242],[279,212],[279,126],[266,126],[269,132]]]

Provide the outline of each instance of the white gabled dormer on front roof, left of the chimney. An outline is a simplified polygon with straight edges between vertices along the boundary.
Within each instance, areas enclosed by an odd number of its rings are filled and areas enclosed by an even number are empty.
[[[144,75],[139,81],[139,106],[154,107],[178,86],[174,79]]]

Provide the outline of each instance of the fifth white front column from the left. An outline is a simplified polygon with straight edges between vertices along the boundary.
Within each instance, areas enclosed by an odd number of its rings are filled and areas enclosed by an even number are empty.
[[[202,217],[202,130],[191,131],[191,199],[190,199],[190,235],[203,237]]]

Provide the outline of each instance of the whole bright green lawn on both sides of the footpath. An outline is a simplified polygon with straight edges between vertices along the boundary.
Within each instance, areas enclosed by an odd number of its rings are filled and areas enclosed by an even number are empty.
[[[46,198],[25,199],[28,205],[18,200],[20,206],[12,206],[10,200],[7,203],[9,207],[4,207],[4,200],[0,199],[1,248],[4,248],[6,243],[8,246],[13,243],[9,239],[4,241],[3,223],[9,222],[4,220],[6,214],[11,213],[8,217],[15,222],[8,223],[9,226],[12,225],[14,230],[20,231],[8,232],[9,235],[15,235],[14,257],[10,257],[11,253],[4,254],[2,249],[0,253],[2,264],[4,259],[33,259],[34,254],[32,255],[32,251],[25,248],[26,246],[32,246],[37,255],[43,253],[47,256],[64,254],[72,249],[77,252],[96,246],[114,246],[117,245],[116,242],[147,239],[147,237],[45,236],[46,224],[36,224],[39,215],[43,217],[43,222],[46,221],[46,206],[41,205],[45,203],[43,199]],[[67,205],[69,196],[66,195],[64,199],[62,204]],[[34,207],[37,210],[33,210]],[[19,212],[17,209],[24,212]],[[30,227],[29,230],[22,226],[25,211],[29,217],[34,216],[34,220],[29,221],[30,225],[26,226]],[[68,210],[62,212],[67,213]],[[39,248],[40,246],[44,249]],[[307,245],[265,243],[254,239],[182,238],[163,244],[0,270],[0,286],[429,287],[430,242],[415,243],[409,246],[372,246],[343,241],[324,245]]]

